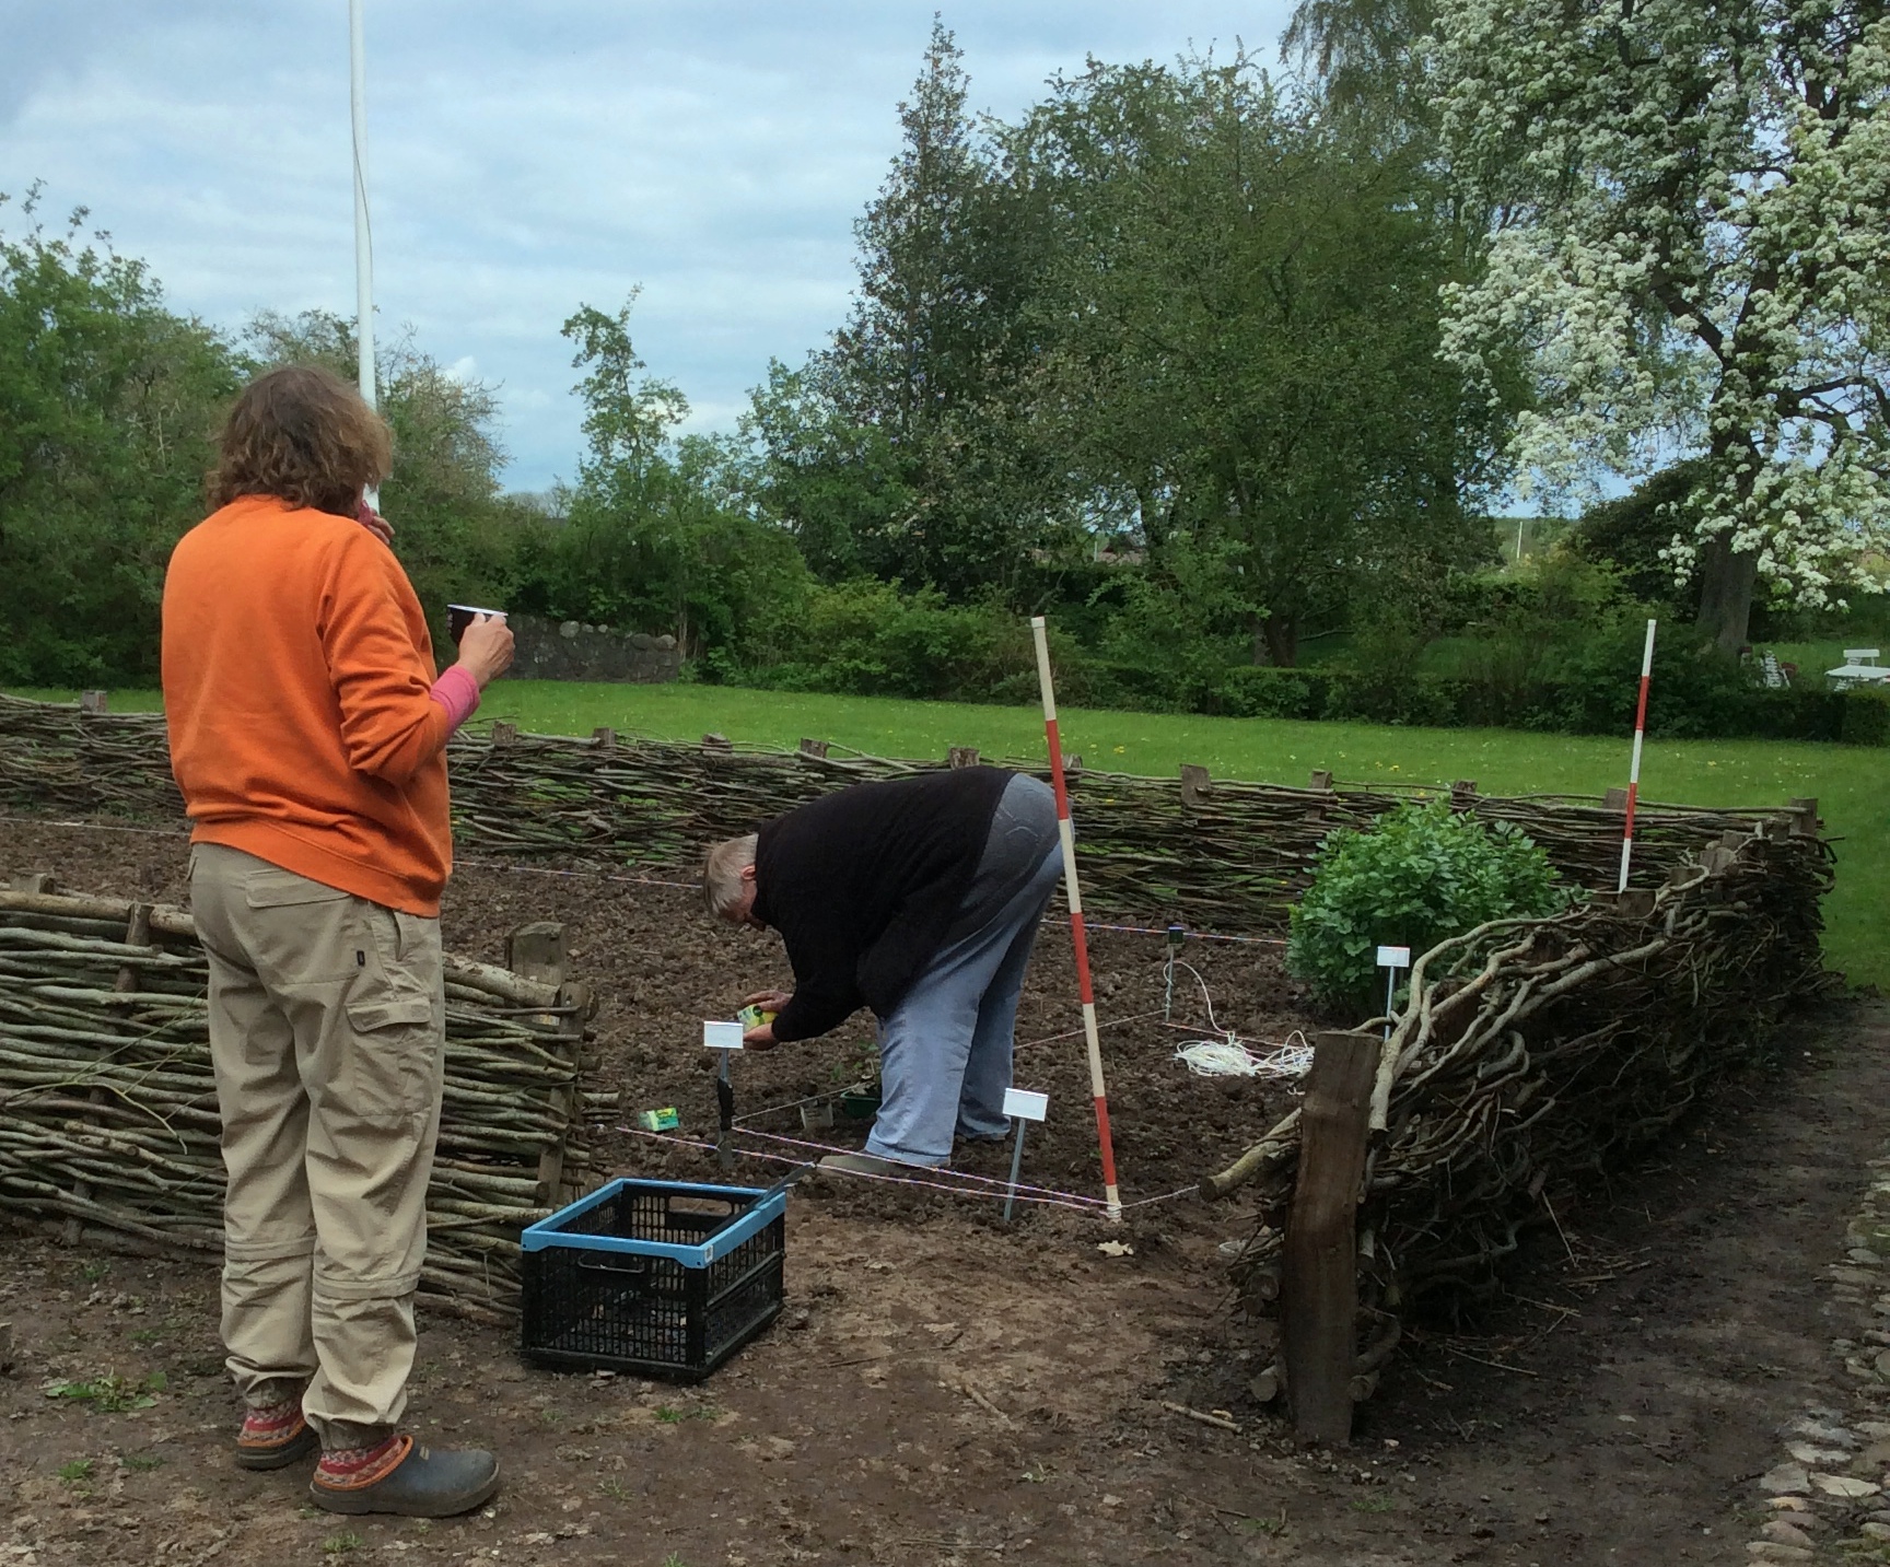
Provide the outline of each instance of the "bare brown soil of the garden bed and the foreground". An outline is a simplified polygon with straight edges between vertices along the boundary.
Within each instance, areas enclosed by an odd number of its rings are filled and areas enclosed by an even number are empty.
[[[185,902],[183,868],[176,835],[0,824],[4,875]],[[567,922],[626,1108],[675,1104],[684,1136],[713,1138],[699,1021],[786,981],[773,938],[709,926],[682,888],[465,866],[446,939],[503,960],[527,919]],[[1198,941],[1185,958],[1223,1026],[1310,1026],[1272,949]],[[1172,1059],[1206,1028],[1160,1026],[1159,939],[1102,932],[1096,966],[1119,1023],[1104,1038],[1125,1197],[1164,1197],[1264,1130],[1283,1096]],[[1174,1015],[1206,1025],[1183,981]],[[1045,926],[1019,1038],[1075,1023],[1068,938]],[[741,1059],[737,1111],[833,1091],[868,1038],[856,1025]],[[1094,1195],[1081,1040],[1026,1045],[1017,1076],[1053,1108],[1026,1181]],[[803,1136],[794,1111],[748,1125]],[[816,1178],[790,1200],[782,1323],[701,1387],[550,1376],[505,1331],[429,1321],[416,1427],[497,1446],[508,1472],[488,1516],[431,1527],[316,1516],[306,1476],[229,1465],[214,1272],[70,1251],[0,1219],[0,1319],[19,1340],[0,1376],[0,1561],[1743,1559],[1775,1427],[1835,1374],[1818,1268],[1843,1251],[1886,1130],[1882,1019],[1807,1025],[1763,1076],[1561,1212],[1561,1232],[1544,1227],[1503,1300],[1414,1335],[1342,1454],[1297,1448],[1242,1391],[1264,1348],[1230,1312],[1217,1255],[1251,1225],[1238,1202],[1179,1197],[1119,1227],[1049,1206],[1004,1227],[988,1198]],[[996,1174],[1004,1157],[966,1168]],[[714,1178],[705,1151],[641,1136],[603,1140],[601,1159]],[[750,1159],[737,1176],[781,1168]],[[1117,1238],[1132,1255],[1098,1251]],[[45,1393],[108,1374],[163,1386],[125,1410]],[[1228,1410],[1238,1429],[1170,1404]]]

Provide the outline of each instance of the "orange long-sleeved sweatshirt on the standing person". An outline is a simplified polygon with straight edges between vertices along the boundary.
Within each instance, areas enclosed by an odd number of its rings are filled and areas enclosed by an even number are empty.
[[[193,843],[414,915],[452,871],[448,709],[406,573],[353,518],[244,495],[164,577],[164,718]]]

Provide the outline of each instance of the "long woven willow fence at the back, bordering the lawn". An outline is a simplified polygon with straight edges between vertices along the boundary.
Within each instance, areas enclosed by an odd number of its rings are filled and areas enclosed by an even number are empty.
[[[803,741],[798,752],[620,737],[520,735],[507,724],[450,747],[454,837],[461,852],[565,864],[694,866],[703,845],[752,832],[781,811],[868,779],[975,760],[888,762]],[[1015,762],[1022,771],[1040,762]],[[1083,852],[1083,896],[1111,917],[1177,917],[1225,932],[1276,932],[1306,887],[1321,839],[1365,826],[1416,786],[1308,788],[1227,783],[1200,767],[1174,779],[1072,766]],[[1431,790],[1435,794],[1436,790]],[[1612,887],[1622,800],[1452,790],[1486,820],[1523,826],[1576,887]],[[0,801],[70,815],[178,817],[164,720],[87,715],[77,707],[0,697]],[[1654,887],[1688,852],[1727,832],[1750,832],[1763,811],[1641,805],[1635,885]]]

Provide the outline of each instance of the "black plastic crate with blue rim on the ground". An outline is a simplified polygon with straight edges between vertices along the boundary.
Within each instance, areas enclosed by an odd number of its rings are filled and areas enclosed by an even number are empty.
[[[781,1189],[622,1180],[533,1225],[525,1359],[707,1376],[781,1316],[786,1206]]]

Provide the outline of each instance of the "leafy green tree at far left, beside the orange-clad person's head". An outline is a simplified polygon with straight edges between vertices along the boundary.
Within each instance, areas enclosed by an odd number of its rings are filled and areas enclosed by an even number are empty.
[[[38,204],[0,232],[0,679],[151,682],[164,561],[202,516],[238,367],[83,208],[47,232]]]

